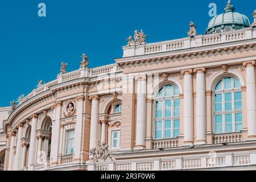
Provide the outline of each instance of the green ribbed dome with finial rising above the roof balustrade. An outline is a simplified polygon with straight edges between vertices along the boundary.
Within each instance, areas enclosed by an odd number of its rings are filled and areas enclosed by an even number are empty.
[[[247,16],[237,12],[234,13],[234,9],[231,1],[229,1],[228,5],[225,7],[225,13],[214,16],[210,20],[206,34],[240,30],[250,27],[250,21]]]

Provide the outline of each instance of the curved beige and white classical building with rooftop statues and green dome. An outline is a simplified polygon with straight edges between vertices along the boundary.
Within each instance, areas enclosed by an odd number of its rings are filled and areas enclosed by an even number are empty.
[[[165,42],[135,31],[115,64],[62,63],[12,103],[4,169],[256,169],[255,26],[229,1],[205,35],[193,22]]]

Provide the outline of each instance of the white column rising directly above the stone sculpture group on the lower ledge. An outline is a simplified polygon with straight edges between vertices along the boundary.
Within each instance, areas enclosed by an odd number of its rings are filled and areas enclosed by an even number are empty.
[[[98,96],[89,97],[92,100],[92,113],[90,115],[90,149],[97,147],[98,136]]]

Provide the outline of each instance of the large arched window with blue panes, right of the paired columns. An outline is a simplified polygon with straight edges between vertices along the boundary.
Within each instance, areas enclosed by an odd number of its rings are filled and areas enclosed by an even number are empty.
[[[224,77],[216,85],[214,128],[216,134],[242,130],[241,84],[236,77]]]

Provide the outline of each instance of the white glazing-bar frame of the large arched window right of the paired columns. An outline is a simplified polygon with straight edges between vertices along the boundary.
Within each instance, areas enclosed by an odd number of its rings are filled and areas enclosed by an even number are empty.
[[[225,88],[225,78],[231,77],[231,88],[226,89]],[[235,80],[237,80],[240,83],[240,87],[235,88]],[[221,89],[216,90],[217,85],[221,82]],[[231,101],[226,102],[225,96],[227,93],[231,93]],[[241,100],[235,100],[235,94],[236,93],[241,93]],[[221,102],[216,102],[216,95],[221,94]],[[236,130],[236,125],[237,123],[242,123],[243,127],[243,100],[242,100],[242,88],[241,88],[241,82],[236,76],[225,76],[220,78],[217,81],[217,84],[214,87],[213,90],[213,133],[214,134],[228,134],[228,133],[238,133],[241,132],[242,128],[240,131]],[[236,102],[241,102],[241,109],[236,109]],[[226,103],[231,103],[232,104],[232,109],[231,110],[226,110]],[[216,111],[216,104],[221,104],[221,111]],[[227,131],[226,125],[230,125],[230,123],[226,122],[226,115],[231,114],[232,115],[232,131]],[[236,114],[241,114],[242,121],[236,122]],[[222,123],[217,124],[216,123],[216,115],[221,115],[222,118]],[[222,126],[222,132],[217,133],[217,125]]]

